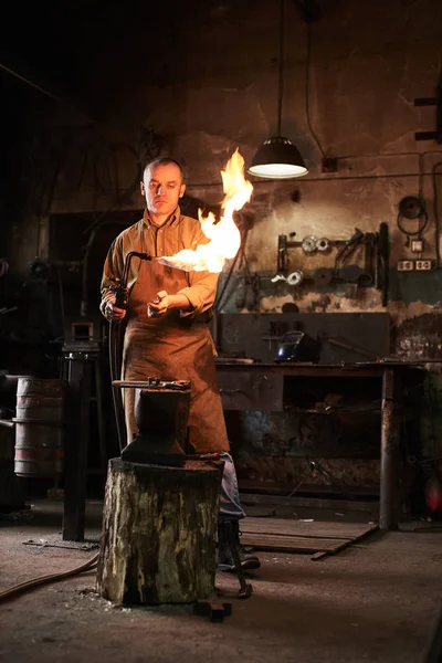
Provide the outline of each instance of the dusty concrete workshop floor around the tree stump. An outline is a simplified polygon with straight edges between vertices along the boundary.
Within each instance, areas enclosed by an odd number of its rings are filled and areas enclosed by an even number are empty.
[[[60,543],[61,513],[60,503],[44,501],[32,507],[32,519],[28,514],[0,522],[0,591],[94,555],[23,545]],[[86,539],[96,541],[99,527],[101,505],[90,503]],[[260,556],[253,596],[225,597],[233,610],[223,623],[193,615],[190,607],[115,608],[94,593],[94,572],[38,588],[0,603],[0,660],[423,661],[441,602],[442,533],[376,534],[322,561],[298,554]],[[238,583],[219,573],[217,586],[232,594]]]

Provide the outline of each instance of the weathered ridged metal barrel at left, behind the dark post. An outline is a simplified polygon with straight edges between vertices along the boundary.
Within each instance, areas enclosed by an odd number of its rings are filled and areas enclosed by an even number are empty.
[[[66,387],[63,380],[19,379],[13,419],[18,476],[46,478],[63,472]]]

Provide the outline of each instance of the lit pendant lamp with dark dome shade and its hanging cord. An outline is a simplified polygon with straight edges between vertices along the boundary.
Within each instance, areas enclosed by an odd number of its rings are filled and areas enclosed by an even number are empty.
[[[283,55],[284,55],[284,3],[281,0],[280,12],[280,86],[277,98],[277,134],[264,141],[257,149],[248,172],[265,179],[292,179],[308,172],[297,147],[281,135],[283,107]]]

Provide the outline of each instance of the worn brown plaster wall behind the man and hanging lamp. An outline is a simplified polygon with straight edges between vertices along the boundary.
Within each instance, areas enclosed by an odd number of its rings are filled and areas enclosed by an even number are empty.
[[[402,198],[422,197],[429,222],[419,257],[436,267],[442,148],[433,140],[415,140],[415,131],[435,129],[435,110],[414,106],[414,99],[435,94],[442,4],[439,0],[319,2],[322,17],[312,25],[308,90],[308,27],[297,4],[302,3],[286,3],[282,133],[295,141],[309,172],[286,182],[252,178],[252,200],[240,217],[242,230],[248,229],[245,257],[235,264],[228,283],[231,263],[224,267],[221,309],[281,313],[284,305],[295,304],[302,313],[388,311],[393,354],[441,357],[442,270],[397,271],[398,261],[415,257],[397,218]],[[49,204],[38,218],[28,213],[13,223],[15,272],[25,272],[35,245],[40,255],[56,257],[48,228],[61,215],[72,214],[71,249],[76,242],[80,261],[85,241],[75,233],[76,214],[96,218],[106,211],[140,209],[140,158],[165,154],[183,164],[187,210],[198,201],[217,206],[222,200],[220,170],[234,149],[239,147],[248,165],[259,145],[275,133],[277,3],[189,2],[172,13],[164,36],[152,34],[146,49],[147,18],[133,17],[134,32],[130,40],[125,38],[118,62],[115,53],[107,59],[112,40],[102,44],[99,57],[78,61],[83,91],[95,88],[95,107],[101,97],[105,99],[104,122],[66,115],[50,99],[36,99],[41,124],[34,145],[40,145],[39,158],[48,166],[40,171],[46,178],[43,189]],[[324,155],[336,159],[335,171],[323,170]],[[304,282],[294,287],[273,281],[278,235],[347,240],[356,228],[378,233],[380,223],[387,223],[390,233],[386,307],[381,292],[372,286],[349,288],[345,281],[315,284],[318,269],[334,267],[334,252],[306,254],[291,249],[290,271],[303,272]],[[407,221],[410,232],[415,228],[415,221]],[[94,240],[98,257],[107,249],[104,236]],[[362,248],[346,264],[364,269]],[[434,453],[442,432],[438,409],[442,379],[434,369],[430,382],[435,406],[422,424],[428,455]]]

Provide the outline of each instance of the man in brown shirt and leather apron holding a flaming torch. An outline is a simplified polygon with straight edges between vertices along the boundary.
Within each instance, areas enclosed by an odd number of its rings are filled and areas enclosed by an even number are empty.
[[[101,311],[106,319],[127,315],[123,350],[123,378],[144,380],[190,380],[189,440],[197,453],[220,452],[224,461],[219,515],[219,568],[233,570],[225,541],[232,527],[239,543],[240,504],[236,474],[229,454],[221,397],[213,360],[214,346],[207,326],[217,295],[218,274],[185,272],[158,261],[134,259],[130,263],[127,313],[115,307],[109,276],[120,278],[130,251],[152,257],[194,250],[208,242],[198,220],[183,217],[178,207],[186,186],[180,165],[168,158],[155,159],[140,182],[146,210],[140,221],[113,242],[104,266]],[[137,432],[134,417],[135,391],[126,390],[125,414],[128,443]],[[257,569],[260,560],[240,547],[241,566]]]

